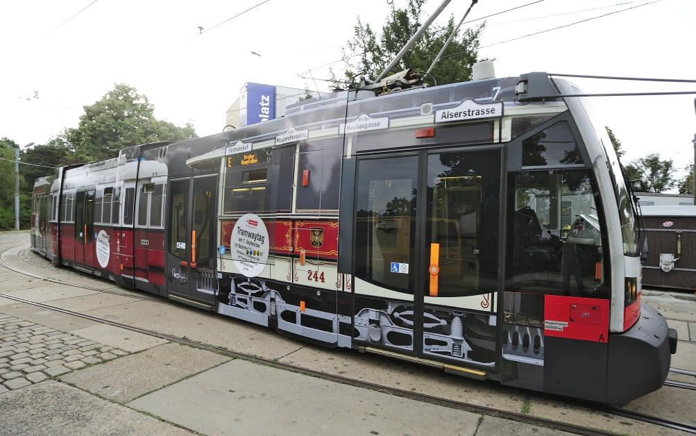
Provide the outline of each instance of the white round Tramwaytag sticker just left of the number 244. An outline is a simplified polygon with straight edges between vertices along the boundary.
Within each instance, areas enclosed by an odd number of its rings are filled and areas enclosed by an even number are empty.
[[[242,215],[232,229],[230,254],[237,270],[246,277],[256,277],[266,267],[269,240],[266,224],[257,215]]]

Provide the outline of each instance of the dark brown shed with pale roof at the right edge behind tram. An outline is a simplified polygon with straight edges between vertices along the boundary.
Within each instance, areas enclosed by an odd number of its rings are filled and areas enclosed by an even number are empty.
[[[640,247],[647,234],[649,249],[643,286],[696,290],[696,206],[642,206],[642,215]]]

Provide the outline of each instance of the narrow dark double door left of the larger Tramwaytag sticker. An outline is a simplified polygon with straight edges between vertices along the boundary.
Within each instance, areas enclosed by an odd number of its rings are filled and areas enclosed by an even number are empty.
[[[168,295],[213,309],[217,176],[171,180],[168,197]]]

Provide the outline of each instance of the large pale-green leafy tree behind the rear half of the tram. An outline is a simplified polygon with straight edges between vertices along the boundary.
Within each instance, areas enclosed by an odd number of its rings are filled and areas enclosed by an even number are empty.
[[[75,157],[82,162],[110,159],[118,156],[122,148],[138,144],[197,137],[191,124],[177,127],[155,119],[155,106],[127,84],[116,84],[84,110],[78,127],[68,129],[64,139],[72,144]]]

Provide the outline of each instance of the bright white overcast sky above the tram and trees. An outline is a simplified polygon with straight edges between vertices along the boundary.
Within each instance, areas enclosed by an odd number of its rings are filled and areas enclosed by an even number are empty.
[[[65,127],[77,127],[82,107],[115,83],[147,95],[157,118],[193,123],[200,136],[213,134],[222,130],[225,112],[246,81],[314,89],[299,76],[312,70],[314,77],[329,77],[322,65],[340,59],[358,15],[379,30],[390,8],[386,0],[269,0],[220,24],[262,0],[92,1],[0,2],[0,137],[45,143]],[[393,1],[400,7],[407,3]],[[534,1],[480,0],[467,21]],[[439,3],[428,1],[427,14]],[[458,21],[469,5],[453,0],[438,22],[452,14]],[[496,59],[498,77],[546,71],[696,79],[695,18],[694,0],[544,0],[487,18],[479,56]],[[198,26],[205,33],[199,34]],[[334,70],[341,65],[333,63]],[[696,91],[696,84],[574,81],[588,93]],[[327,90],[323,81],[316,86]],[[658,151],[663,159],[674,159],[681,170],[677,176],[683,176],[693,159],[695,97],[592,102],[601,123],[622,141],[624,161]]]

